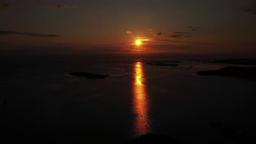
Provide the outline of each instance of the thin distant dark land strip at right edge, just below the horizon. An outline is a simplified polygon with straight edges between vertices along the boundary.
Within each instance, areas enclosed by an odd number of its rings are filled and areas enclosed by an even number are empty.
[[[197,61],[197,62],[256,65],[256,59],[216,59],[214,61]]]

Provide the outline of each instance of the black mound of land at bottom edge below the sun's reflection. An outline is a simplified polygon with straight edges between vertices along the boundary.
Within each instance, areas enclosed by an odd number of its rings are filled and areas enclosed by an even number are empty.
[[[147,134],[142,135],[137,139],[130,140],[128,143],[186,143],[175,137],[168,135],[154,135]]]

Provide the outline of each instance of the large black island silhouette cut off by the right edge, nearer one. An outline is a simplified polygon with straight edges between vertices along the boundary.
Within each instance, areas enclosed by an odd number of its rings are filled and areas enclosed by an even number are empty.
[[[225,67],[219,70],[198,71],[198,75],[223,75],[256,80],[256,67]]]

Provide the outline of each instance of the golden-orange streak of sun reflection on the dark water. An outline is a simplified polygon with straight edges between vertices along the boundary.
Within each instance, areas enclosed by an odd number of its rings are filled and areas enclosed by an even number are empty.
[[[151,133],[151,121],[149,118],[149,99],[146,86],[143,84],[145,80],[143,73],[143,64],[135,63],[134,70],[135,82],[133,83],[133,113],[135,115],[133,123],[133,135],[135,137]]]

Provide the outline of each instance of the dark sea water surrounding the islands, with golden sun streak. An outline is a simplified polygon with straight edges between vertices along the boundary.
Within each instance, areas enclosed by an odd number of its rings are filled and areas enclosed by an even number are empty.
[[[73,142],[125,142],[152,133],[206,143],[222,139],[209,122],[255,128],[256,81],[196,74],[230,64],[182,60],[170,67],[132,61],[144,59],[2,59],[2,131]],[[109,77],[68,74],[74,71]]]

